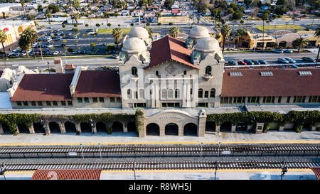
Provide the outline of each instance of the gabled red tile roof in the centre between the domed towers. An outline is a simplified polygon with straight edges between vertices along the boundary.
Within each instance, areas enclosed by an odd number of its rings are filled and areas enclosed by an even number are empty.
[[[152,43],[150,50],[150,64],[144,68],[151,68],[154,65],[175,60],[178,63],[188,65],[192,68],[200,69],[191,63],[191,50],[185,48],[185,43],[171,36],[166,36]]]

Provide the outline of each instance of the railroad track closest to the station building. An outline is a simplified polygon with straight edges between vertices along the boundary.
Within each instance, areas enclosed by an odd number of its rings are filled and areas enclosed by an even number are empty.
[[[121,146],[2,146],[0,158],[17,156],[152,156],[154,154],[196,156],[210,156],[228,153],[234,155],[299,155],[309,154],[319,156],[320,144],[205,144],[201,145],[121,145]]]

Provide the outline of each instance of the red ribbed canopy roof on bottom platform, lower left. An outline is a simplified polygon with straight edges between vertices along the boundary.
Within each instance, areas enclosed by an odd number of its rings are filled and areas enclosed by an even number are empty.
[[[102,169],[36,170],[31,180],[99,180]]]

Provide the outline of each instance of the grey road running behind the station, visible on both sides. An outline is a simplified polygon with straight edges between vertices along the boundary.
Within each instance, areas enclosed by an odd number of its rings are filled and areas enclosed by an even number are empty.
[[[301,59],[302,57],[311,57],[315,58],[316,53],[226,53],[225,61],[228,60],[243,60],[243,59],[263,59],[267,61],[276,61],[278,58],[289,57],[294,60]],[[55,57],[59,58],[59,57]],[[79,58],[65,58],[60,57],[63,59],[63,64],[73,64],[73,65],[89,65],[92,68],[99,67],[99,66],[114,66],[117,64],[117,60],[114,58],[107,58],[104,56],[95,57],[95,58],[88,58],[88,57],[79,57]],[[4,63],[6,64],[7,68],[16,68],[18,65],[25,65],[26,68],[47,68],[47,62],[50,62],[50,65],[53,65],[53,58],[52,59],[36,59],[36,60],[9,60],[9,61],[0,61],[0,68],[4,68]]]

